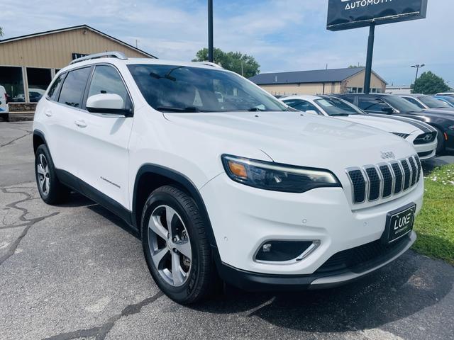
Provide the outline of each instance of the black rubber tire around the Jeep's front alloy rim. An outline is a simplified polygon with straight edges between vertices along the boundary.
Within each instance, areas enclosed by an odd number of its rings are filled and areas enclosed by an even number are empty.
[[[148,224],[152,218],[152,213],[157,209],[160,209],[163,205],[168,206],[177,212],[178,217],[180,217],[184,223],[187,235],[189,235],[189,244],[192,253],[192,259],[190,261],[191,266],[187,272],[186,281],[178,287],[169,283],[168,280],[165,280],[162,271],[158,271],[157,266],[155,266],[155,263],[153,262],[152,250],[150,249],[150,242],[153,243],[153,241],[150,241],[150,237],[153,237],[150,236],[150,234],[153,234],[153,230],[149,230]],[[150,194],[143,208],[141,235],[143,252],[145,254],[148,269],[160,290],[175,302],[183,305],[189,305],[203,300],[211,295],[216,289],[218,278],[205,228],[206,226],[204,225],[194,200],[175,186],[162,186],[157,188]],[[168,238],[169,235],[167,234],[167,239]],[[167,245],[168,242],[165,246]],[[162,249],[165,249],[165,246]],[[167,248],[171,248],[171,246],[167,246]],[[175,249],[173,252],[178,253]],[[165,256],[172,255],[174,255],[172,254],[172,251],[168,251],[168,254]],[[162,259],[168,261],[165,257]]]

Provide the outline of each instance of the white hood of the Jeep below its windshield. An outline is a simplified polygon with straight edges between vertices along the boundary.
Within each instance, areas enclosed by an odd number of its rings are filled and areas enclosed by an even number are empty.
[[[409,142],[347,120],[301,112],[164,113],[206,144],[201,152],[245,156],[253,147],[263,158],[284,164],[345,172],[345,167],[383,162],[416,153]],[[267,157],[268,156],[268,157]]]

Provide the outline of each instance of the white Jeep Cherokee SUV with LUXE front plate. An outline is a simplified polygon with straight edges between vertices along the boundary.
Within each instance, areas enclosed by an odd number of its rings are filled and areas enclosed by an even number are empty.
[[[339,285],[416,239],[423,175],[408,142],[294,111],[214,64],[74,60],[38,103],[33,147],[45,203],[79,191],[121,217],[180,303],[218,278]]]

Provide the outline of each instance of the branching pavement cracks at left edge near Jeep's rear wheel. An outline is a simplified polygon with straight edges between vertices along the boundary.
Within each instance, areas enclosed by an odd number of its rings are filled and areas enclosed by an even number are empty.
[[[28,220],[26,218],[26,215],[29,214],[28,209],[18,207],[18,204],[27,202],[28,200],[33,200],[34,198],[32,198],[32,196],[29,193],[27,193],[26,191],[9,191],[9,190],[13,190],[13,189],[16,189],[16,188],[0,188],[0,190],[3,193],[19,193],[19,194],[22,194],[23,196],[26,196],[26,198],[23,198],[22,200],[16,200],[15,202],[9,203],[6,205],[6,208],[11,208],[11,209],[16,209],[16,210],[21,211],[21,216],[19,216],[19,220],[21,220],[23,222],[21,226],[25,227],[25,228],[23,229],[23,231],[21,232],[19,237],[11,244],[11,246],[9,246],[9,249],[6,251],[6,253],[0,257],[0,266],[4,263],[4,261],[9,259],[11,256],[13,256],[13,254],[16,252],[18,245],[21,243],[21,240],[24,237],[26,237],[28,230],[30,230],[30,228],[33,227],[33,225],[45,220],[48,217],[52,217],[52,216],[58,215],[60,213],[60,212],[52,212],[52,214],[40,216],[40,217],[34,217],[34,218],[31,218],[30,220]],[[1,227],[1,229],[12,228],[12,227],[13,226],[11,226],[11,225],[6,225],[5,227]],[[15,227],[18,227],[18,226],[15,226]]]

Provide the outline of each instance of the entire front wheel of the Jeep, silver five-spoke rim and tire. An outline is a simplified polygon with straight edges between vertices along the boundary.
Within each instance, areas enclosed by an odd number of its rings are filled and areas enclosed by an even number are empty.
[[[141,235],[151,276],[172,300],[190,304],[216,290],[204,220],[187,193],[175,186],[153,191],[143,208]]]

